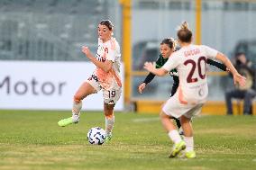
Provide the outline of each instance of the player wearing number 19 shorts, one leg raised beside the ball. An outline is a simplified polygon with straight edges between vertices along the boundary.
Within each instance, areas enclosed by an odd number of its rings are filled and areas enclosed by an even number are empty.
[[[59,126],[67,126],[78,123],[82,100],[90,94],[103,91],[105,132],[106,140],[112,137],[114,128],[114,104],[119,100],[122,93],[120,78],[121,53],[119,43],[114,39],[114,25],[109,20],[103,20],[98,24],[98,49],[96,57],[87,46],[82,47],[82,52],[96,65],[96,69],[88,77],[74,95],[72,117],[58,122]]]

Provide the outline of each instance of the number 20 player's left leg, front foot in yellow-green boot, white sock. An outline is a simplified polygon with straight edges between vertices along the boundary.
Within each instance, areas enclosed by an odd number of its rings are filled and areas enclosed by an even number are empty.
[[[169,139],[171,139],[174,143],[169,157],[177,157],[179,152],[186,148],[185,142],[178,134],[178,130],[176,129],[173,120],[169,119],[169,115],[167,115],[165,112],[160,112],[160,120],[164,129],[168,132]]]

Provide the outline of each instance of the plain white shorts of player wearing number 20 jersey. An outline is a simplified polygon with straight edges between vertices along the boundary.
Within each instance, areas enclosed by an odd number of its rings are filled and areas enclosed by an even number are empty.
[[[179,118],[184,115],[187,118],[192,118],[199,114],[204,103],[183,104],[178,100],[178,92],[174,94],[162,107],[162,111],[169,116]]]

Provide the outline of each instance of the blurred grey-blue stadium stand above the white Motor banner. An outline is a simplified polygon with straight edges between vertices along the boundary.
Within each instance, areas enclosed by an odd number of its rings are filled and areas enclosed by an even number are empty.
[[[108,16],[106,0],[1,0],[0,59],[81,60],[96,52],[96,24]]]

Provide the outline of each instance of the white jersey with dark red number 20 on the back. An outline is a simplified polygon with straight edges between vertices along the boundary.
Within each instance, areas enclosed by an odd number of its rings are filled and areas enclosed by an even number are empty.
[[[205,103],[208,94],[206,60],[215,58],[218,51],[203,45],[189,45],[171,54],[162,67],[177,68],[178,100],[183,104]]]

